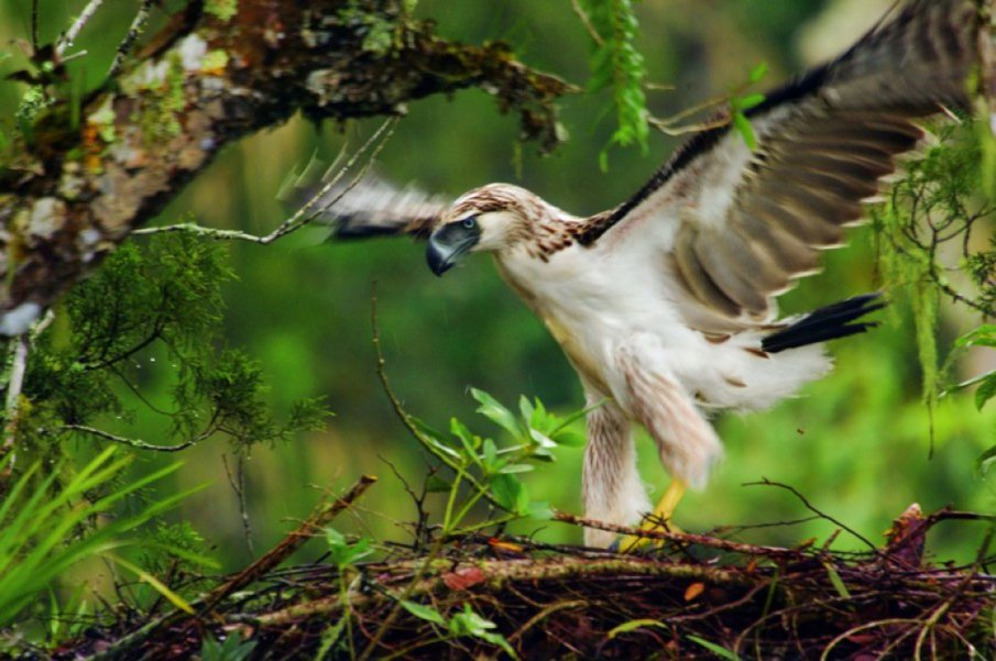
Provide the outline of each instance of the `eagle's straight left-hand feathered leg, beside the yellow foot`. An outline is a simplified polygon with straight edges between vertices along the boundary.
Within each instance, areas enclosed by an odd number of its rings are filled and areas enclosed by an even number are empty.
[[[596,408],[588,414],[584,514],[610,524],[633,524],[649,511],[650,504],[636,471],[631,423],[615,404],[604,401],[601,395],[589,392],[588,403]],[[609,547],[615,538],[604,530],[584,530],[584,543],[590,547]]]

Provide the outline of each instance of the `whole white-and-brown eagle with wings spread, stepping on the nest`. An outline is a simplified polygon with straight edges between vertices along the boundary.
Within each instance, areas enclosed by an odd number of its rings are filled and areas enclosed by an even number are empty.
[[[444,203],[383,184],[332,209],[341,238],[428,241],[442,275],[491,253],[578,372],[588,416],[590,518],[667,517],[685,484],[704,485],[722,445],[704,411],[768,407],[830,368],[822,342],[864,331],[864,296],[779,319],[775,297],[840,245],[917,120],[968,108],[990,75],[990,0],[910,0],[846,53],[769,91],[747,111],[749,148],[730,125],[697,134],[633,197],[580,218],[533,192],[490,184]],[[981,75],[984,74],[984,75]],[[642,425],[675,478],[652,510],[636,470]],[[589,544],[613,535],[588,530]]]

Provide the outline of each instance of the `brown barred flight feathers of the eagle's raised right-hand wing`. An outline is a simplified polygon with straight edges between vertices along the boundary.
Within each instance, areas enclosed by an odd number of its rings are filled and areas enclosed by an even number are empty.
[[[915,0],[842,57],[753,109],[759,147],[721,229],[689,214],[678,231],[674,265],[689,294],[727,317],[762,318],[771,295],[811,273],[817,249],[842,243],[842,228],[861,219],[862,200],[922,137],[913,120],[968,103],[978,16],[973,0]],[[689,148],[737,146],[726,131],[679,151],[658,177],[691,163]]]

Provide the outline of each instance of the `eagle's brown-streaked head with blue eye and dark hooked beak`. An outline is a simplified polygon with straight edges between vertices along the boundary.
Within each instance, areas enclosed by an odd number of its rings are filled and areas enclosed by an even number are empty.
[[[511,184],[489,184],[461,196],[429,235],[426,261],[442,275],[471,252],[502,253],[529,241],[548,205]]]

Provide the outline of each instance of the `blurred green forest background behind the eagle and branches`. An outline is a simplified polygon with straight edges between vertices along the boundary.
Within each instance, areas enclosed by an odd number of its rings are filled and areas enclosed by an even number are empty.
[[[85,3],[43,1],[42,36],[51,40]],[[74,64],[77,75],[103,71],[127,30],[131,10],[113,3],[89,25],[78,47],[88,55]],[[130,4],[130,3],[129,3]],[[135,2],[134,4],[138,4]],[[672,90],[650,93],[655,114],[668,115],[746,79],[758,63],[770,73],[763,87],[814,64],[807,53],[833,53],[874,23],[889,2],[822,0],[646,0],[637,4],[649,79]],[[168,3],[167,3],[168,5]],[[24,40],[30,2],[0,5],[0,41]],[[567,0],[458,2],[422,0],[420,16],[438,22],[449,38],[479,43],[510,42],[530,66],[579,86],[588,77],[589,36]],[[163,16],[156,18],[157,23]],[[17,45],[0,73],[24,66]],[[95,74],[96,75],[96,74]],[[22,87],[0,85],[0,117],[11,117]],[[516,142],[516,118],[497,113],[480,91],[431,98],[408,108],[377,168],[398,183],[460,194],[494,180],[526,186],[576,213],[613,206],[634,192],[678,141],[652,137],[647,154],[613,150],[610,169],[599,153],[612,133],[606,95],[579,93],[563,99],[562,123],[570,140],[540,157],[534,145]],[[288,210],[275,199],[292,168],[313,154],[330,159],[343,143],[359,145],[379,122],[314,126],[295,120],[230,146],[160,216],[171,223],[191,214],[198,222],[265,233]],[[136,241],[147,241],[139,239]],[[471,260],[442,279],[425,267],[423,250],[405,240],[328,244],[322,232],[295,234],[271,246],[233,243],[231,266],[238,280],[225,291],[226,335],[230,345],[258,359],[270,385],[269,398],[286,411],[295,399],[327,397],[336,416],[321,432],[292,442],[258,448],[248,463],[245,497],[256,552],[274,543],[292,520],[306,515],[324,489],[338,489],[361,473],[381,482],[350,522],[381,539],[406,539],[402,526],[415,508],[392,467],[418,485],[426,456],[393,416],[374,371],[371,346],[371,293],[376,283],[380,327],[387,371],[408,411],[445,428],[457,416],[479,432],[500,430],[475,416],[469,387],[482,388],[506,404],[519,394],[538,396],[550,408],[582,406],[580,386],[560,350],[499,278],[486,258]],[[803,311],[855,294],[875,290],[876,268],[869,228],[851,234],[850,247],[827,254],[825,271],[784,297],[784,309]],[[920,403],[920,368],[908,305],[901,289],[876,331],[831,346],[836,370],[801,397],[774,410],[721,416],[727,455],[703,493],[687,496],[677,522],[692,531],[720,526],[752,526],[809,516],[791,494],[745,483],[768,478],[790,484],[822,510],[866,537],[878,540],[889,521],[910,503],[926,510],[945,505],[994,511],[994,485],[976,469],[992,444],[990,410],[975,410],[971,393],[943,398],[930,421]],[[978,320],[964,310],[944,309],[939,329],[941,354]],[[168,405],[175,373],[155,353],[139,359],[143,397]],[[970,354],[949,375],[961,381],[992,366],[993,355]],[[155,442],[165,436],[161,416],[122,387],[135,410],[133,421],[109,419],[116,433]],[[101,441],[79,441],[74,450],[90,454]],[[639,443],[642,472],[658,495],[667,485],[652,443]],[[185,451],[184,467],[172,488],[204,482],[208,488],[174,513],[206,538],[226,569],[251,557],[244,541],[238,498],[226,476],[222,456],[231,452],[210,439]],[[142,456],[142,470],[172,458]],[[563,449],[558,461],[526,476],[530,492],[558,508],[580,511],[580,449]],[[430,507],[438,504],[430,500]],[[833,530],[816,520],[787,527],[744,530],[752,541],[792,544],[824,540]],[[524,522],[547,541],[580,541],[580,531],[559,524]],[[983,529],[946,525],[932,533],[940,558],[971,559]],[[861,542],[843,536],[838,546]]]

